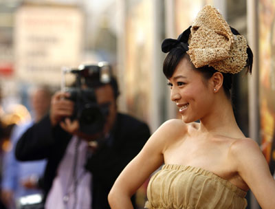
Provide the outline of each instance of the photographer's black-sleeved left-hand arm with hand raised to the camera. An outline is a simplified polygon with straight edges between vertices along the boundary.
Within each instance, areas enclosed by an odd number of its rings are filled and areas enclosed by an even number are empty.
[[[52,97],[50,115],[34,124],[17,142],[15,155],[22,161],[49,157],[60,142],[68,140],[69,133],[63,131],[58,122],[72,112],[73,103],[62,99],[66,94],[57,92]]]

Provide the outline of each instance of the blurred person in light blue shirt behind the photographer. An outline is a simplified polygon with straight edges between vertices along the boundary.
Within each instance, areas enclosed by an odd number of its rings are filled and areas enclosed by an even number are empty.
[[[19,162],[14,151],[19,137],[49,111],[51,92],[46,86],[34,87],[29,96],[32,120],[14,126],[10,137],[12,148],[4,156],[1,199],[7,208],[14,208],[20,197],[41,194],[38,182],[45,168],[45,160]]]

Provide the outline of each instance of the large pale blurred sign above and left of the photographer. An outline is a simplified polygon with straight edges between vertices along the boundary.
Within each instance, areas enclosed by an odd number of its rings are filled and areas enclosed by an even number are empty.
[[[79,8],[23,5],[15,21],[15,73],[31,83],[60,85],[61,67],[77,67],[83,37]]]

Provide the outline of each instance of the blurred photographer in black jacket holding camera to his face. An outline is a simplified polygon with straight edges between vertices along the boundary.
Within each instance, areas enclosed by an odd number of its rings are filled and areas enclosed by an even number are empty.
[[[54,94],[50,115],[17,143],[17,159],[47,159],[46,209],[109,208],[111,186],[150,136],[146,124],[117,113],[118,85],[105,67],[72,71],[76,87]]]

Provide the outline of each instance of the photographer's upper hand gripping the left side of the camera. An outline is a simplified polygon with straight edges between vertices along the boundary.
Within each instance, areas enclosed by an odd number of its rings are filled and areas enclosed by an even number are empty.
[[[52,96],[50,111],[52,126],[56,126],[63,118],[72,115],[74,111],[74,102],[66,98],[69,98],[69,93],[61,91],[57,91],[56,94]]]

